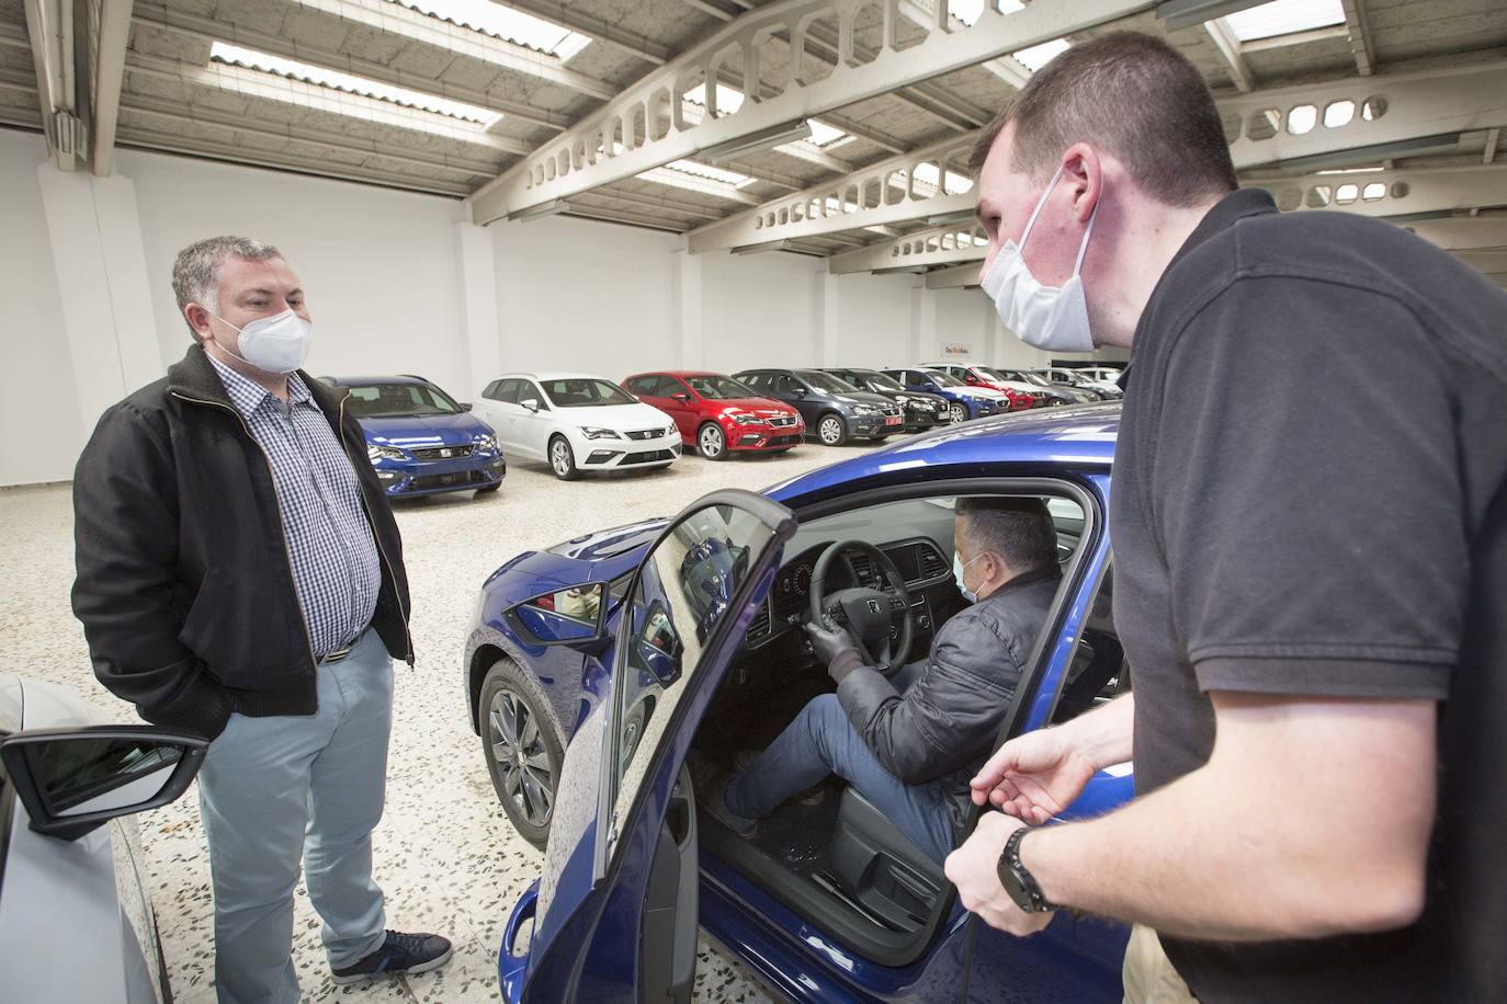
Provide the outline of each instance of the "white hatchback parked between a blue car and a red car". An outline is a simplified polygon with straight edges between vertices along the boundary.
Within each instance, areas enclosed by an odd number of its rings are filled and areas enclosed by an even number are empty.
[[[472,414],[508,456],[546,461],[567,482],[582,471],[669,467],[680,456],[674,418],[591,373],[503,373],[476,394]]]

